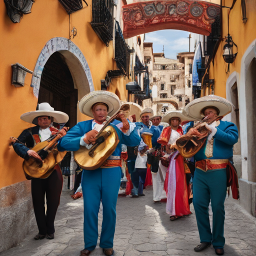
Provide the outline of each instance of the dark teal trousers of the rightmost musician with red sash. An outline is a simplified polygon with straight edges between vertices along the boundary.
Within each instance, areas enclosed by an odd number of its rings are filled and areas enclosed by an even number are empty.
[[[224,201],[226,197],[226,169],[202,171],[195,169],[193,177],[193,205],[200,242],[211,242],[214,248],[223,248]],[[208,206],[212,207],[212,233]]]

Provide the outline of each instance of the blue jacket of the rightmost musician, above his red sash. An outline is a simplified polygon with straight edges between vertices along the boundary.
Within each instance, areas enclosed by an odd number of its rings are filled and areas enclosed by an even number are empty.
[[[238,130],[234,123],[221,121],[216,126],[217,132],[213,136],[213,153],[212,157],[205,156],[206,142],[202,148],[194,155],[196,161],[202,159],[228,159],[233,156],[233,145],[238,140]]]

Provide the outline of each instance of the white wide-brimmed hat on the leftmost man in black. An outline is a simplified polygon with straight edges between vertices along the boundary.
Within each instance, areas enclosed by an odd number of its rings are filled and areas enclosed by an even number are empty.
[[[47,102],[42,102],[37,105],[37,110],[21,114],[20,119],[29,123],[38,125],[38,116],[47,115],[51,117],[51,121],[57,123],[66,123],[68,115],[61,111],[55,111],[53,107]]]

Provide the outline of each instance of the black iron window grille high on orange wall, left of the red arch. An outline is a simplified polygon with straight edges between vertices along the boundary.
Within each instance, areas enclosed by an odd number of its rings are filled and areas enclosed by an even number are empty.
[[[113,18],[111,15],[111,0],[92,0],[92,21],[90,25],[97,36],[109,45],[113,40]]]

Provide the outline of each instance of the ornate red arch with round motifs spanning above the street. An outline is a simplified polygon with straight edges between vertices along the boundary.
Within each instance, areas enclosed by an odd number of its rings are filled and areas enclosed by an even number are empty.
[[[179,29],[209,35],[220,20],[220,5],[194,0],[139,1],[122,6],[123,36],[162,29]]]

